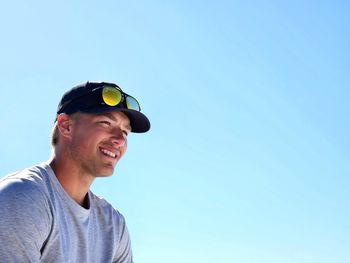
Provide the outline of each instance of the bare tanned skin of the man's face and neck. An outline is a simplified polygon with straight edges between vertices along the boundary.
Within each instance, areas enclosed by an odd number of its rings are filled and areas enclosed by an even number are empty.
[[[112,175],[126,152],[129,118],[122,112],[62,113],[57,126],[60,134],[50,166],[65,191],[86,207],[87,192],[95,178]]]

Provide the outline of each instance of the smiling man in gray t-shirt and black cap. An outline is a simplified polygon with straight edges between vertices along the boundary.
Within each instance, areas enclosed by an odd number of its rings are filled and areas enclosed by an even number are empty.
[[[112,175],[130,132],[149,129],[137,100],[113,83],[66,92],[50,160],[0,181],[0,262],[133,262],[124,217],[89,188]]]

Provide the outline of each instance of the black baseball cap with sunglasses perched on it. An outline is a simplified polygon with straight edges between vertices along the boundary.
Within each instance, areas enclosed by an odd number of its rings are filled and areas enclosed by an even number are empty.
[[[112,96],[112,100],[116,101],[117,104],[109,103],[110,100],[108,97],[106,100],[106,94],[109,97]],[[116,95],[118,99],[115,99]],[[144,133],[151,127],[148,118],[141,113],[138,101],[123,92],[114,83],[88,81],[77,85],[63,94],[57,107],[57,115],[60,113],[104,113],[111,111],[123,112],[129,118],[131,132]]]

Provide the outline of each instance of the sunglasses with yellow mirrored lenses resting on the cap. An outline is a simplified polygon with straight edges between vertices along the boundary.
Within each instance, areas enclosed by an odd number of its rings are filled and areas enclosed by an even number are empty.
[[[127,109],[141,111],[140,103],[129,94],[126,94],[118,86],[102,86],[93,89],[92,92],[101,90],[103,103],[108,106],[117,106],[123,103]]]

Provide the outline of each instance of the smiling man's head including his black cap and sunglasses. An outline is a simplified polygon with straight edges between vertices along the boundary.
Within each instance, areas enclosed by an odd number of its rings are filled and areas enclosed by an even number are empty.
[[[126,151],[127,135],[149,129],[135,98],[113,83],[87,82],[63,95],[52,144],[86,172],[110,175]]]

